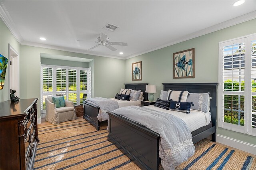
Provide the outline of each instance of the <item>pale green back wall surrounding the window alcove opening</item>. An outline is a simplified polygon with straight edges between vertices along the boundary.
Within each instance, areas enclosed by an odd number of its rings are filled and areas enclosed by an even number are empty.
[[[40,47],[20,45],[20,97],[39,98],[40,103],[40,53],[66,55],[93,59],[94,97],[113,98],[124,84],[124,63],[122,59],[100,57]],[[118,71],[116,71],[118,70]]]

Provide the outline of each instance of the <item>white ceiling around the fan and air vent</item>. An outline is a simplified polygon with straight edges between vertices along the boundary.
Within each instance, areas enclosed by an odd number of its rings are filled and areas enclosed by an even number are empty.
[[[21,44],[127,59],[256,18],[256,0],[235,1],[2,0],[0,14]],[[119,28],[102,29],[107,22]],[[100,32],[128,46],[88,50]]]

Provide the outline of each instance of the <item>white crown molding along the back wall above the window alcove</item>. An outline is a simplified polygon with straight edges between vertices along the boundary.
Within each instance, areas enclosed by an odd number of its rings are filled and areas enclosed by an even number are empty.
[[[56,45],[47,45],[47,44],[33,43],[33,42],[26,42],[26,41],[23,41],[22,43],[20,43],[20,45],[28,45],[28,46],[32,46],[32,47],[55,49],[55,50],[60,50],[60,51],[67,51],[67,52],[73,52],[73,53],[81,53],[81,54],[87,54],[87,55],[95,55],[95,56],[99,56],[99,57],[109,57],[109,58],[116,58],[116,59],[125,59],[125,58],[120,58],[119,56],[115,56],[115,55],[105,55],[105,54],[102,54],[102,53],[90,53],[88,51],[83,51],[83,50],[79,50],[79,49],[73,49],[73,48],[69,48],[69,47],[60,47],[60,46],[56,46]]]

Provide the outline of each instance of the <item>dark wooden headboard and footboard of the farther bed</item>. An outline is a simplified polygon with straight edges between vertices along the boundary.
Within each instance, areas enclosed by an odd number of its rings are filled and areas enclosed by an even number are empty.
[[[132,90],[141,90],[143,92],[144,101],[148,100],[148,93],[146,93],[146,85],[148,83],[125,83],[125,89]],[[114,97],[115,94],[113,94]],[[100,121],[97,116],[100,110],[100,107],[93,105],[91,103],[83,102],[84,105],[84,115],[83,118],[88,121],[92,126],[94,126],[97,130],[100,130]]]

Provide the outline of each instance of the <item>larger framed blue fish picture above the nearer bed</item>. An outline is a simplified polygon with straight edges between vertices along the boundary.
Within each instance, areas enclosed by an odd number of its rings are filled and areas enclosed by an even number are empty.
[[[173,53],[173,78],[195,78],[195,48]]]

